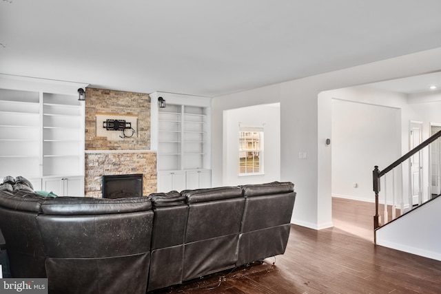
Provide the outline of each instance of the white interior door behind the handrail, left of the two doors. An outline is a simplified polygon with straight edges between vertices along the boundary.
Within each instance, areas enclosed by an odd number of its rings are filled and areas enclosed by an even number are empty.
[[[420,145],[422,142],[421,134],[422,123],[411,122],[410,127],[410,150]],[[422,153],[421,151],[410,158],[411,168],[411,204],[419,204],[422,199]],[[410,200],[409,200],[410,201]]]

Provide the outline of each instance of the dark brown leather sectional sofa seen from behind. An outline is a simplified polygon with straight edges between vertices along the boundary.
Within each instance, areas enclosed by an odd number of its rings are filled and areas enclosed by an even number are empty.
[[[47,277],[50,293],[145,293],[283,254],[291,182],[48,198],[0,189],[12,277]]]

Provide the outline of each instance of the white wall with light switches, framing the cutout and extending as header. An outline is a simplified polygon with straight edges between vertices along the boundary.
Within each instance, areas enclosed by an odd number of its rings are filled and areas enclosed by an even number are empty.
[[[291,222],[313,229],[329,227],[331,152],[323,138],[331,137],[331,115],[327,114],[331,109],[326,112],[329,101],[318,99],[318,94],[436,70],[441,70],[441,48],[213,98],[213,185],[224,180],[223,112],[280,103],[280,180],[294,182],[297,191]],[[298,158],[300,151],[307,152],[306,159]]]

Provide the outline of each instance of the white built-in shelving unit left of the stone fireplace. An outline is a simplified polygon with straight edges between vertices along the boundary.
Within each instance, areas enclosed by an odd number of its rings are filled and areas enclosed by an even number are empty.
[[[84,105],[78,86],[70,85],[72,94],[54,94],[13,85],[0,89],[0,177],[24,176],[36,190],[50,182],[59,196],[82,196]]]

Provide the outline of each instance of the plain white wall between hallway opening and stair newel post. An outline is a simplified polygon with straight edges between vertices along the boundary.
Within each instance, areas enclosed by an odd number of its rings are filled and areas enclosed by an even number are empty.
[[[387,167],[401,156],[399,118],[397,108],[333,100],[333,196],[375,202],[373,166]]]

